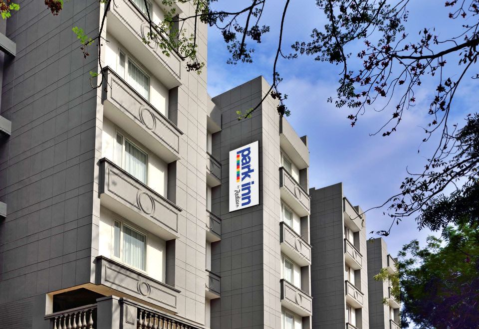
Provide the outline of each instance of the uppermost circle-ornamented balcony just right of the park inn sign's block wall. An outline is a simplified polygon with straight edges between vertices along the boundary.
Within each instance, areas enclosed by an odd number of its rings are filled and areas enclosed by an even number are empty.
[[[281,199],[300,217],[310,213],[310,196],[283,167],[279,168],[279,190]]]

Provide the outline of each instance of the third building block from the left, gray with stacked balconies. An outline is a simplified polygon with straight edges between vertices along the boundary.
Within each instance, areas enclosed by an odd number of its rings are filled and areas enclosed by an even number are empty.
[[[366,218],[338,183],[311,188],[312,328],[368,329]]]

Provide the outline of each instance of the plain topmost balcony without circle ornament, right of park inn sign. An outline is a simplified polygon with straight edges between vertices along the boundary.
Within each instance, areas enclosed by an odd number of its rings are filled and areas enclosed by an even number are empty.
[[[298,137],[293,127],[289,122],[281,117],[279,118],[279,143],[288,155],[294,159],[294,163],[299,169],[304,169],[309,166],[309,150]]]

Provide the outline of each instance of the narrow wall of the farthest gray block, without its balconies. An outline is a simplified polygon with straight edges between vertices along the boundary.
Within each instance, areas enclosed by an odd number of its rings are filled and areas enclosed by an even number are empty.
[[[383,303],[383,299],[389,296],[388,283],[374,280],[374,276],[388,266],[388,247],[383,238],[368,240],[367,245],[370,328],[389,328],[389,306]]]

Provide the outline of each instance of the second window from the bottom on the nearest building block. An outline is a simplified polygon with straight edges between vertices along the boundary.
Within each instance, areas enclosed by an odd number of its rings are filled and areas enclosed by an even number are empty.
[[[126,172],[147,183],[148,156],[120,133],[116,134],[115,162]]]

